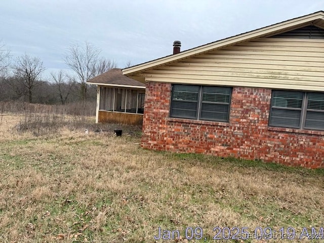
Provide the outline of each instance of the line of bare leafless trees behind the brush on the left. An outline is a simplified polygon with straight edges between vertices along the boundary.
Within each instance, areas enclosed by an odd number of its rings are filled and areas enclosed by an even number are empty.
[[[88,85],[87,80],[117,67],[116,62],[100,53],[88,42],[71,45],[63,58],[71,73],[59,70],[44,79],[46,67],[39,57],[25,53],[12,59],[10,50],[0,43],[0,101],[65,104],[95,100],[96,87]],[[131,66],[131,62],[126,66]]]

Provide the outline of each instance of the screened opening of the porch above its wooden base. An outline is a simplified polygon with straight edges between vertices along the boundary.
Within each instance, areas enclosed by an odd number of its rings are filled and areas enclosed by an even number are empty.
[[[100,87],[100,110],[144,113],[145,90]]]

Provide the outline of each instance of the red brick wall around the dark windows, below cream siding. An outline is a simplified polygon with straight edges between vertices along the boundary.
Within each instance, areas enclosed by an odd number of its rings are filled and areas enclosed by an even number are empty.
[[[324,168],[324,131],[268,127],[271,90],[234,87],[229,123],[169,117],[171,84],[146,83],[141,146]]]

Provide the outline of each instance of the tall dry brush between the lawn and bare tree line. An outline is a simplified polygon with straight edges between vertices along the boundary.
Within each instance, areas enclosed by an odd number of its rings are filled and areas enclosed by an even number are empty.
[[[18,123],[13,131],[30,132],[34,136],[59,134],[62,128],[89,127],[94,124],[95,104],[77,102],[66,105],[30,104],[27,102],[0,102],[0,126],[4,114],[16,114]]]

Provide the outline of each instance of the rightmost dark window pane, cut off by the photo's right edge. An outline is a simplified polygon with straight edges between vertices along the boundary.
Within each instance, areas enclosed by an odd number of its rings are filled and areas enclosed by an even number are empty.
[[[323,93],[308,93],[305,128],[324,130]]]

